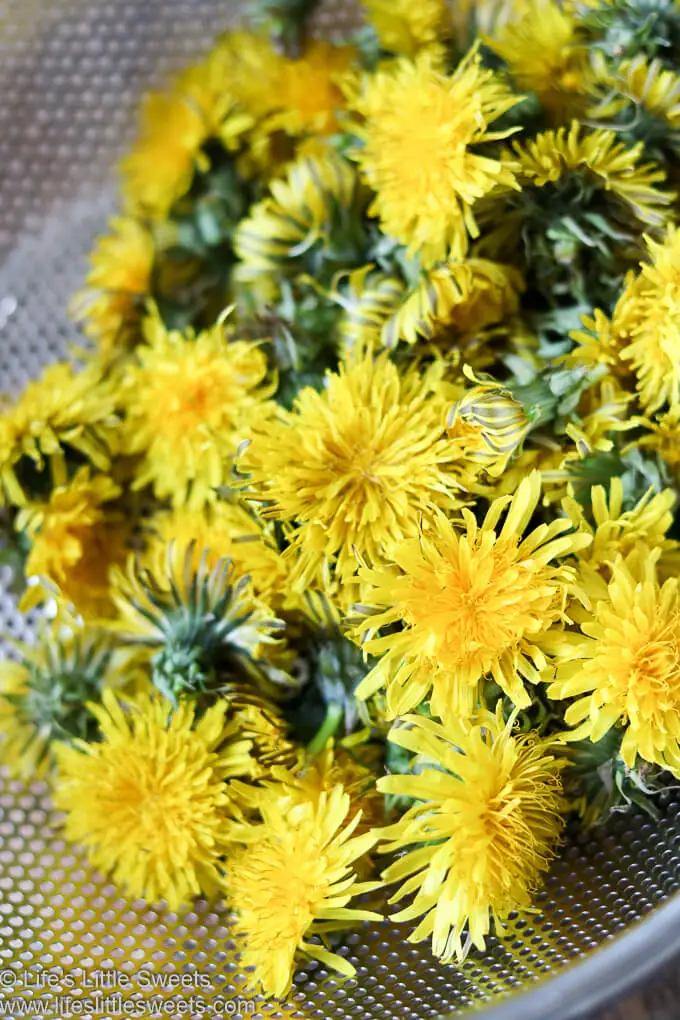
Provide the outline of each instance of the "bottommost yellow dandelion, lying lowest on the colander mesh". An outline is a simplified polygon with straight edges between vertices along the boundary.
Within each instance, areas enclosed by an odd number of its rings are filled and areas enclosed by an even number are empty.
[[[361,815],[349,819],[350,807],[342,786],[300,803],[263,789],[262,820],[229,829],[242,844],[229,852],[225,879],[237,914],[233,932],[244,940],[242,964],[255,968],[257,990],[265,996],[285,996],[298,954],[352,977],[355,969],[345,957],[309,939],[354,921],[380,920],[373,911],[348,906],[375,887],[358,881],[354,871],[375,836],[354,834]]]

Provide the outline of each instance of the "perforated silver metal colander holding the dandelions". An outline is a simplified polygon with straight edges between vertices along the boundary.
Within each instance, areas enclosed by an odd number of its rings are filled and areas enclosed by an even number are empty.
[[[227,0],[0,0],[0,389],[66,354],[65,307],[115,209],[112,167],[140,94],[238,16]],[[327,0],[317,30],[355,19],[347,0]],[[0,573],[0,633],[24,638],[8,583]],[[125,901],[59,837],[45,787],[0,773],[0,1015],[584,1017],[680,949],[680,799],[665,797],[659,823],[630,813],[570,830],[536,912],[463,967],[437,964],[385,921],[345,935],[356,979],[310,962],[280,1005],[246,990],[223,910]],[[150,976],[173,974],[184,987]]]

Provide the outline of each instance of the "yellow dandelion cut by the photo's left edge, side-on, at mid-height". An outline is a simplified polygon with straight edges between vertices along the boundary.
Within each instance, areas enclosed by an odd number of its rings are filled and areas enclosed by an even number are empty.
[[[108,470],[118,448],[119,421],[113,388],[92,364],[77,369],[57,362],[34,379],[14,402],[0,398],[0,505],[22,506],[25,457],[38,470],[46,461],[56,480],[65,480],[67,450]]]

